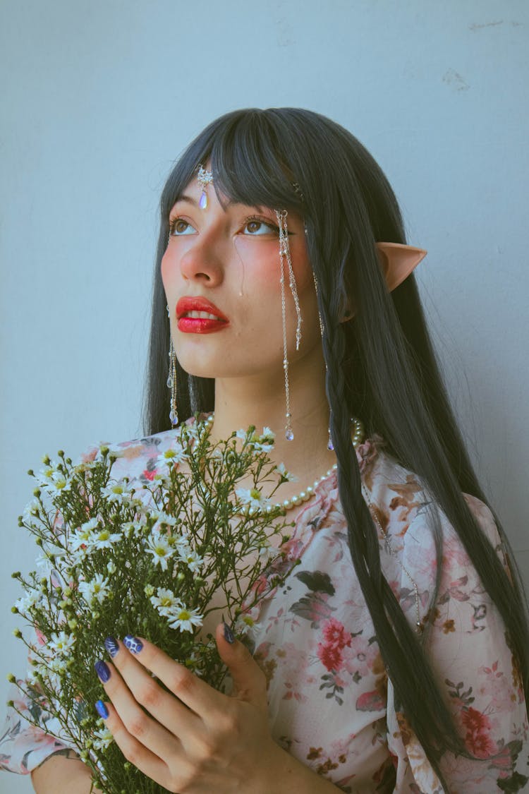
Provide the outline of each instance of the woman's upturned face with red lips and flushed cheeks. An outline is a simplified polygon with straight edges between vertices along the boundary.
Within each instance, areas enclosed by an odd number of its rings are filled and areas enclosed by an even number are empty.
[[[283,376],[281,266],[274,210],[228,203],[213,185],[201,209],[201,185],[193,179],[170,213],[170,236],[161,272],[174,349],[182,368],[208,378]],[[301,307],[301,345],[295,349],[297,315],[285,267],[289,364],[321,352],[316,290],[301,218],[288,214],[289,249]],[[285,263],[286,265],[286,263]],[[206,299],[220,319],[199,318],[193,304]],[[200,309],[200,306],[197,306]],[[183,314],[182,314],[183,312]],[[196,314],[196,310],[195,310]]]

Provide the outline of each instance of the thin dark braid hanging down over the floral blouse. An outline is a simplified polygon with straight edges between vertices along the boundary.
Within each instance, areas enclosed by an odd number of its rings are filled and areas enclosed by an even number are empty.
[[[318,260],[316,254],[312,258],[315,271],[320,264]],[[324,324],[322,341],[327,364],[326,391],[331,409],[331,434],[338,463],[339,497],[347,520],[351,559],[370,609],[386,671],[393,684],[395,707],[404,711],[442,780],[439,757],[447,749],[465,755],[466,750],[454,730],[453,719],[439,692],[422,643],[381,571],[378,531],[362,496],[360,470],[351,444],[351,417],[343,372],[347,339],[343,324],[337,322],[337,315],[331,308],[339,297],[335,293],[328,294],[328,279],[318,279],[318,283],[318,303]],[[440,526],[435,534],[439,553]],[[411,658],[420,663],[411,665]],[[429,693],[427,709],[421,708],[418,702],[422,697],[421,692]]]

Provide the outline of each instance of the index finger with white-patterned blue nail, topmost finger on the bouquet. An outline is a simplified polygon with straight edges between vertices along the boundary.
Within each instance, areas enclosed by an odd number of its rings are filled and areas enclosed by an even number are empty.
[[[178,700],[202,720],[207,721],[214,714],[224,713],[228,698],[195,676],[184,665],[179,665],[167,656],[167,653],[163,653],[163,650],[143,637],[128,635],[124,639],[124,644],[141,665],[151,670],[151,673],[154,673]],[[187,727],[187,720],[190,719],[189,711],[186,711],[185,719]]]

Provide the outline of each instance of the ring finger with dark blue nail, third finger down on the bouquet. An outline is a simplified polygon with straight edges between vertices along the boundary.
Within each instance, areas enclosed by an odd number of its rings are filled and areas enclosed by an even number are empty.
[[[170,730],[167,730],[144,711],[114,665],[98,662],[96,672],[102,680],[103,688],[112,701],[121,723],[132,738],[165,761],[178,752],[182,753],[178,736],[172,734]],[[150,678],[150,676],[147,677]],[[151,684],[159,688],[152,679]]]

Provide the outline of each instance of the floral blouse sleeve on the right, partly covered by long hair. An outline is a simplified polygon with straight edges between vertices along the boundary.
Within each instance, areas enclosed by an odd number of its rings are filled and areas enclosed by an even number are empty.
[[[491,511],[479,499],[465,498],[506,565]],[[529,791],[527,710],[504,623],[453,527],[442,513],[440,517],[443,573],[426,647],[472,755],[446,753],[441,769],[450,794]],[[420,512],[404,538],[403,571],[414,572],[421,593],[431,592],[435,579],[427,521],[427,513]],[[403,573],[403,586],[404,579]],[[393,708],[390,681],[387,725],[389,750],[397,765],[395,792],[441,794],[445,789],[423,748],[404,715]]]

